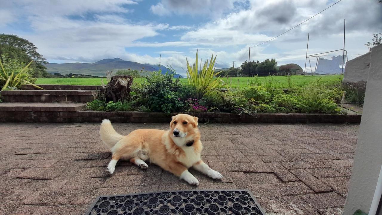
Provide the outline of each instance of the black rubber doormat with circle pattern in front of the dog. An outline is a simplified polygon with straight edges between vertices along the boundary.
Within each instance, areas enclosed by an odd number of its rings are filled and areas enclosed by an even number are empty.
[[[265,215],[248,190],[187,190],[99,196],[85,215]]]

